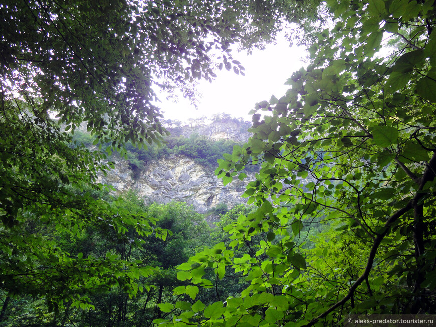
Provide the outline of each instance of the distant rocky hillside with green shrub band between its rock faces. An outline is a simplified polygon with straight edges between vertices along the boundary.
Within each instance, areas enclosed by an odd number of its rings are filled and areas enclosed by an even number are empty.
[[[247,180],[237,179],[225,187],[214,170],[223,153],[231,153],[235,144],[248,139],[251,124],[229,117],[215,117],[206,125],[201,125],[202,122],[182,125],[166,121],[171,135],[165,137],[165,144],[138,149],[128,143],[127,159],[112,155],[110,160],[115,162],[115,168],[107,176],[101,175],[99,181],[112,185],[117,193],[135,190],[150,203],[183,201],[200,213],[224,204],[230,208],[245,203],[241,195],[257,166],[247,166]],[[93,142],[83,130],[76,131],[74,140],[88,147]]]

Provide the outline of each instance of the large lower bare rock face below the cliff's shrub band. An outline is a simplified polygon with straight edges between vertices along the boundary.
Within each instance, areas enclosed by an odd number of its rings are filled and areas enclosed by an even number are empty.
[[[235,179],[223,186],[212,172],[205,170],[192,159],[184,156],[170,156],[162,161],[151,161],[133,180],[126,160],[115,161],[115,169],[101,177],[100,182],[112,185],[118,192],[135,190],[146,201],[168,203],[173,200],[192,204],[199,213],[206,213],[220,203],[232,207],[245,203],[241,198],[248,181]]]

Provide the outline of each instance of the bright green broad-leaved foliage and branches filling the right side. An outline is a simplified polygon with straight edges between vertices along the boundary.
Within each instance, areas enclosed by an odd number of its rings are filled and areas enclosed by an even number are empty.
[[[262,162],[245,192],[257,209],[226,228],[231,243],[179,267],[192,285],[207,283],[197,273],[207,266],[250,285],[156,323],[341,325],[349,313],[436,312],[434,2],[327,6],[333,24],[316,35],[311,63],[284,96],[256,105],[254,136],[216,170],[228,183]],[[383,39],[391,47],[378,53]],[[235,256],[259,236],[256,252]]]

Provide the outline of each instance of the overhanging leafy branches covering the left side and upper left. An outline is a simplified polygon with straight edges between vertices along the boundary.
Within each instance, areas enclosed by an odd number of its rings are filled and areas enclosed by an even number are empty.
[[[70,304],[92,308],[93,293],[114,284],[137,293],[139,277],[149,274],[140,263],[119,254],[72,255],[50,234],[80,238],[95,228],[126,246],[132,228],[134,243],[137,237],[165,236],[153,217],[77,192],[101,190],[97,174],[111,163],[103,163],[102,151],[70,147],[71,134],[86,122],[95,145],[110,143],[121,155],[126,142],[139,147],[159,142],[167,132],[154,90],[179,87],[192,97],[191,82],[215,76],[218,62],[211,50],[222,53],[217,59],[222,67],[242,73],[230,44],[262,47],[289,16],[265,5],[195,0],[0,4],[3,308],[17,294],[42,296],[57,314]]]

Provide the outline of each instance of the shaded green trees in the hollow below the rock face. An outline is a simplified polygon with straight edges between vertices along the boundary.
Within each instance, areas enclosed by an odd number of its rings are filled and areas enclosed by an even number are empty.
[[[78,191],[78,190],[76,190]],[[176,267],[187,261],[189,256],[204,246],[229,239],[222,228],[229,221],[235,221],[239,214],[250,212],[250,208],[238,206],[223,216],[218,228],[212,230],[204,217],[196,213],[192,207],[183,203],[171,202],[165,205],[144,205],[144,199],[138,198],[133,192],[128,192],[119,198],[112,198],[108,193],[88,190],[93,198],[104,198],[107,203],[119,210],[126,210],[134,215],[147,215],[156,219],[157,226],[167,231],[166,237],[156,238],[155,235],[138,237],[134,229],[129,229],[125,236],[131,242],[120,242],[115,233],[102,234],[99,229],[90,226],[79,236],[71,236],[64,231],[50,230],[44,224],[33,224],[33,230],[39,231],[44,237],[53,238],[60,250],[68,252],[72,257],[95,258],[116,256],[126,263],[138,264],[139,270],[133,293],[123,287],[123,284],[112,283],[93,287],[87,300],[92,305],[77,308],[71,300],[66,300],[63,309],[50,312],[44,298],[32,298],[24,292],[14,296],[0,295],[3,303],[2,325],[15,326],[149,326],[157,318],[166,317],[169,312],[162,312],[168,305],[178,309],[186,307],[191,297],[189,295],[173,294],[174,287],[186,289],[188,282],[177,279]],[[133,240],[135,240],[133,242]],[[247,252],[242,249],[240,255]],[[146,274],[144,274],[146,272]],[[68,277],[65,270],[62,271]],[[120,272],[113,271],[117,278],[125,278]],[[213,276],[213,269],[206,269]],[[215,288],[198,290],[197,295],[204,303],[213,303],[230,295],[236,295],[246,287],[242,276],[232,276],[216,280]],[[192,289],[195,291],[195,289]],[[86,292],[82,291],[82,295]],[[194,293],[192,293],[194,294]],[[166,302],[166,303],[165,303]],[[178,302],[178,304],[176,304]],[[180,304],[183,302],[184,304]],[[165,304],[164,304],[165,303]],[[184,305],[184,306],[183,306]]]

